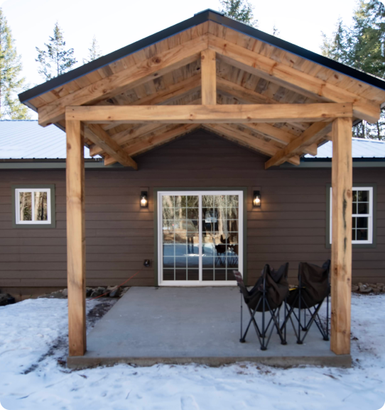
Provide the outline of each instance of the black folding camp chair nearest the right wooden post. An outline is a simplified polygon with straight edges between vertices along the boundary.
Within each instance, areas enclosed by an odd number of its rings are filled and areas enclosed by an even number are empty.
[[[330,260],[327,260],[322,267],[306,262],[300,262],[298,266],[298,287],[291,289],[286,298],[285,321],[283,321],[281,331],[286,335],[286,324],[290,320],[299,345],[305,340],[313,323],[318,327],[323,340],[329,340],[329,275]],[[324,327],[319,311],[325,299],[327,306],[326,326]],[[295,313],[295,309],[298,309],[298,314]],[[297,326],[294,325],[293,318],[297,321]],[[301,331],[305,332],[303,336],[301,336]]]

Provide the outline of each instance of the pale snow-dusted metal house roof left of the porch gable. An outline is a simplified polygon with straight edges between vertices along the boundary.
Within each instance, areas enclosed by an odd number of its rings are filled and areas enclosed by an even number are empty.
[[[38,121],[0,121],[0,159],[65,159],[65,133]],[[85,147],[85,158],[90,150]]]

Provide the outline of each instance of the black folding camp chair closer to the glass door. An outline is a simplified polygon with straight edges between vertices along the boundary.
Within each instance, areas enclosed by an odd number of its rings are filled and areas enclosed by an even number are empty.
[[[237,284],[242,294],[241,338],[239,341],[241,343],[246,341],[247,332],[249,331],[251,323],[253,323],[256,336],[261,344],[261,350],[267,349],[274,328],[276,328],[278,336],[281,338],[281,344],[286,345],[286,338],[283,336],[279,326],[279,309],[288,294],[288,263],[282,265],[278,270],[271,270],[269,265],[265,265],[261,277],[259,277],[255,286],[250,291],[247,290],[242,275],[239,272],[234,271],[234,276],[237,279]],[[244,333],[242,331],[242,299],[245,301],[250,313],[250,321]],[[257,311],[262,313],[261,328],[255,320]],[[265,314],[268,311],[271,317],[266,324]]]

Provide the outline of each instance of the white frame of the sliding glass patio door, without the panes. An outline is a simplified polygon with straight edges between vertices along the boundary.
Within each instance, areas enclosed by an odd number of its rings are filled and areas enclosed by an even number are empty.
[[[239,255],[238,255],[238,270],[243,276],[243,253],[244,253],[244,230],[243,230],[243,191],[159,191],[158,192],[158,284],[159,286],[235,286],[236,280],[202,280],[202,213],[199,213],[199,280],[163,280],[163,212],[162,212],[162,196],[163,195],[183,195],[183,196],[199,196],[199,209],[202,209],[202,195],[238,195],[239,196]]]

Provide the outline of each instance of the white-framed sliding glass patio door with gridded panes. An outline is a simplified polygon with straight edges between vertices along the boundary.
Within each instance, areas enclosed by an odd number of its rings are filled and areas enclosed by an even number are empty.
[[[158,192],[158,283],[234,285],[242,270],[243,192]]]

